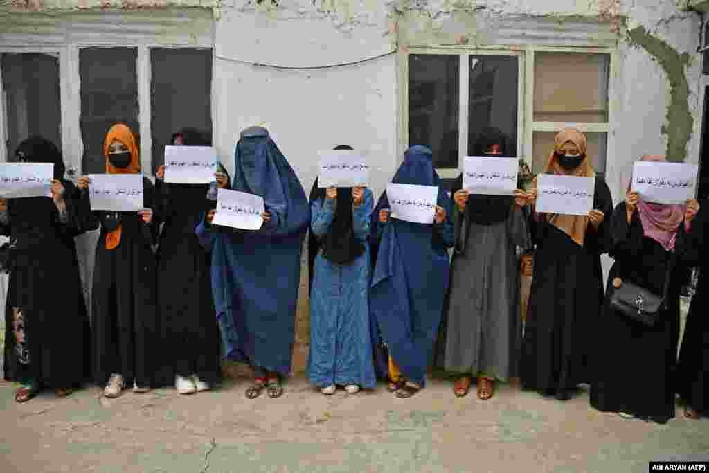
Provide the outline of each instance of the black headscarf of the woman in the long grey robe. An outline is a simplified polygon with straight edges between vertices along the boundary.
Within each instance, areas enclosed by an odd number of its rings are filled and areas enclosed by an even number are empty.
[[[475,156],[484,156],[492,145],[500,147],[501,156],[506,156],[506,136],[497,128],[485,128],[474,148]],[[453,187],[453,193],[463,188],[463,174],[460,174]],[[479,225],[492,225],[506,221],[514,198],[510,196],[489,196],[471,194],[465,206],[467,221]]]

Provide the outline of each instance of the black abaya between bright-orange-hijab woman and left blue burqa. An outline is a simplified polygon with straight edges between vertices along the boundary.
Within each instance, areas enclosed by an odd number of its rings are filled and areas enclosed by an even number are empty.
[[[211,254],[195,233],[201,216],[215,202],[208,184],[157,181],[157,215],[164,221],[157,263],[160,367],[157,382],[196,374],[209,384],[221,381],[220,333],[211,293]]]

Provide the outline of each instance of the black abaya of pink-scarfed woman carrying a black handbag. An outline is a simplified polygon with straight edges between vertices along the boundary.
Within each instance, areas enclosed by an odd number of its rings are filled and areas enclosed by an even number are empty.
[[[681,254],[682,224],[676,238]],[[625,202],[613,213],[615,264],[608,276],[608,294],[619,277],[654,294],[662,294],[671,253],[643,235],[635,211],[627,222]],[[668,291],[668,308],[652,326],[639,323],[610,308],[608,297],[598,323],[596,379],[591,384],[591,406],[599,411],[624,412],[664,423],[674,417],[674,369],[679,338],[679,276],[681,265],[673,265]]]

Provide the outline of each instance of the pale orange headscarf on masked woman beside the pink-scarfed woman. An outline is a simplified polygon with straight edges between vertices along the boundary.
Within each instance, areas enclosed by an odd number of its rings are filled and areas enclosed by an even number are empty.
[[[579,153],[584,156],[579,167],[566,172],[566,169],[559,165],[557,152],[566,142],[571,142],[579,148]],[[578,177],[596,177],[596,172],[591,165],[591,157],[586,154],[586,135],[576,128],[564,128],[559,131],[554,137],[554,150],[549,155],[547,165],[542,171],[542,174],[558,174],[562,176],[578,176]],[[537,189],[537,178],[535,177],[532,183],[534,189]],[[562,230],[566,235],[571,237],[579,246],[584,246],[584,237],[586,236],[586,228],[588,228],[587,216],[576,215],[560,215],[559,213],[547,213],[547,221],[553,226]]]

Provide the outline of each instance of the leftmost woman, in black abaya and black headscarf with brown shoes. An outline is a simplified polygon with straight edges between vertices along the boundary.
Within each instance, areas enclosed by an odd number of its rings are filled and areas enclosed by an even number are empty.
[[[21,162],[54,165],[52,197],[0,201],[0,234],[9,235],[4,374],[26,402],[42,386],[64,397],[89,374],[89,318],[74,237],[77,192],[65,181],[60,150],[35,136],[17,148]]]

